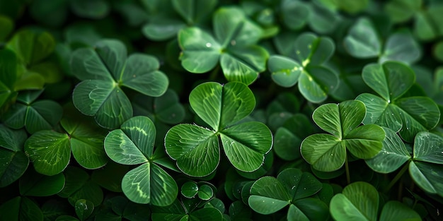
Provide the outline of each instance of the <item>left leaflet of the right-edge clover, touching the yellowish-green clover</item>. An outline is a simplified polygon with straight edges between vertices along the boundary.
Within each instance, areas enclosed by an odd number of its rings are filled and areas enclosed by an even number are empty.
[[[383,147],[375,157],[367,159],[365,162],[375,172],[387,174],[396,171],[411,157],[395,131],[386,127],[383,127],[383,130],[386,133]]]

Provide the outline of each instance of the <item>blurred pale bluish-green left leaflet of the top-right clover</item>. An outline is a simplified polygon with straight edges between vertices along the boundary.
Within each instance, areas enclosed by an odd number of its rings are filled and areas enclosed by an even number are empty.
[[[368,18],[359,18],[352,25],[343,44],[347,52],[357,58],[367,59],[381,54],[381,42],[374,25]]]

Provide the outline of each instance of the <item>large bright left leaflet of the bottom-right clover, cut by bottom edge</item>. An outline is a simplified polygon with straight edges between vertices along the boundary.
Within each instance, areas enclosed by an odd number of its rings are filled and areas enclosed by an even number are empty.
[[[330,214],[334,220],[377,220],[379,192],[374,186],[358,181],[347,185],[343,193],[333,196]]]

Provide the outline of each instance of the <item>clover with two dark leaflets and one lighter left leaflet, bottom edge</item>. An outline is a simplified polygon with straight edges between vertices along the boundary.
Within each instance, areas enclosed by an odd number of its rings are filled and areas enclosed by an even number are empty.
[[[262,177],[251,186],[248,204],[261,214],[271,214],[289,205],[288,220],[327,220],[328,205],[312,196],[322,184],[312,174],[289,168],[274,177]]]

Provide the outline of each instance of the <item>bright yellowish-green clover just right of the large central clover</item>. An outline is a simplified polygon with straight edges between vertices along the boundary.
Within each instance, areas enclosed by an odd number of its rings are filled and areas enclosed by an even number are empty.
[[[385,133],[380,126],[359,126],[365,116],[363,102],[348,100],[340,104],[323,104],[312,114],[313,121],[324,131],[308,136],[300,151],[314,169],[332,172],[343,166],[346,150],[360,159],[374,157],[382,148]]]

